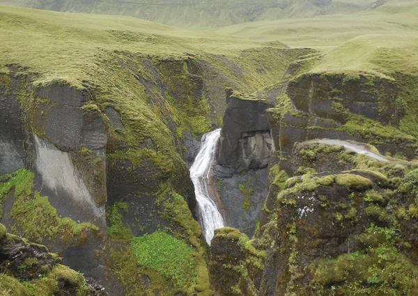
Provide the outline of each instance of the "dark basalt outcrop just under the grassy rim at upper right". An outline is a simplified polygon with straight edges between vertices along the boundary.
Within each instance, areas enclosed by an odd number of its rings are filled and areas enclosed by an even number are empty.
[[[302,74],[288,83],[286,93],[295,110],[340,123],[344,118],[334,110],[333,103],[382,124],[397,125],[401,118],[396,108],[396,83],[376,76]]]

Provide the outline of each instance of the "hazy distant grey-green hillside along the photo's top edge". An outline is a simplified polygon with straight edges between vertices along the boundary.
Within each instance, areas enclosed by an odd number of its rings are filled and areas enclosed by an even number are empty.
[[[283,18],[350,14],[369,8],[373,2],[374,0],[0,1],[6,5],[71,13],[128,15],[151,22],[189,28],[215,28]]]

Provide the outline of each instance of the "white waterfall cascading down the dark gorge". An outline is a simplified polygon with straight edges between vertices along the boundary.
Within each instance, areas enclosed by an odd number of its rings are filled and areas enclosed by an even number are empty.
[[[221,129],[203,135],[199,154],[190,167],[190,178],[194,184],[194,192],[199,206],[201,227],[209,245],[215,229],[224,227],[224,218],[210,197],[212,165],[215,161],[215,149],[220,135]]]

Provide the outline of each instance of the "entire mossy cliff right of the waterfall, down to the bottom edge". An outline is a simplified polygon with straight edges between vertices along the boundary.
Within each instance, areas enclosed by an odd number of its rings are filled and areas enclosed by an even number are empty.
[[[302,58],[268,90],[268,195],[253,240],[215,234],[215,295],[417,293],[415,78],[309,70],[318,63]]]

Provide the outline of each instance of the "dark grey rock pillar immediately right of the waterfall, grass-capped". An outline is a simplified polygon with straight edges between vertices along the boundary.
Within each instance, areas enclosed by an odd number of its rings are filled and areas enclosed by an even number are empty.
[[[267,165],[272,150],[263,99],[226,90],[224,115],[217,151],[215,177],[228,224],[252,236],[267,195]]]

